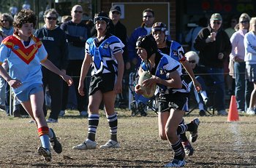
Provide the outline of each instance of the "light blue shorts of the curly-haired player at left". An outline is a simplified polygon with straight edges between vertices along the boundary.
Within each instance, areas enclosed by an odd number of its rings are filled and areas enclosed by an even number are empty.
[[[42,84],[32,84],[21,92],[15,93],[16,97],[20,102],[26,102],[30,100],[30,95],[33,95],[37,92],[43,92]]]

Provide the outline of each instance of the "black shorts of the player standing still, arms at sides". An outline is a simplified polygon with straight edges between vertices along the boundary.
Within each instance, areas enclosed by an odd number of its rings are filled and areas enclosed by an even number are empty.
[[[89,95],[94,95],[98,90],[102,93],[113,91],[115,82],[115,73],[104,73],[100,76],[91,76]]]

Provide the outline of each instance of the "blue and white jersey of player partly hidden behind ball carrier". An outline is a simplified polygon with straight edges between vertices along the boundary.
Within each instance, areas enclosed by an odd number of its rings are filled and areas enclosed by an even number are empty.
[[[171,41],[170,43],[170,57],[178,62],[186,59],[183,47],[176,41]]]

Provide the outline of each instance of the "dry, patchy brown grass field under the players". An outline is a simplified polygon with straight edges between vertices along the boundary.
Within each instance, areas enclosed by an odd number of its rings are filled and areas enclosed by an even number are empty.
[[[199,137],[193,143],[195,153],[187,157],[186,167],[256,167],[256,117],[240,115],[239,121],[227,122],[227,116],[203,116],[193,111],[201,123]],[[101,113],[97,129],[97,149],[74,151],[87,134],[87,119],[69,111],[58,124],[49,124],[63,145],[63,152],[52,152],[47,163],[37,155],[40,145],[37,129],[29,118],[13,118],[0,112],[0,167],[163,167],[173,157],[166,141],[158,137],[157,115],[130,116],[118,109],[118,141],[121,148],[99,149],[109,139],[108,122]],[[189,133],[187,133],[187,136]]]

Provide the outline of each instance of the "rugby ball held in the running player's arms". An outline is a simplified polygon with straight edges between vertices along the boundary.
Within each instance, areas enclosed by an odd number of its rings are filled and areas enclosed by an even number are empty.
[[[140,89],[144,91],[143,96],[146,98],[150,98],[154,96],[154,92],[156,91],[157,84],[154,84],[151,87],[143,87],[142,82],[145,81],[146,79],[150,79],[152,77],[151,73],[148,71],[143,71],[143,73],[140,75],[138,84],[140,85]]]

